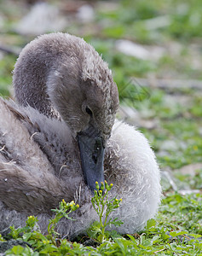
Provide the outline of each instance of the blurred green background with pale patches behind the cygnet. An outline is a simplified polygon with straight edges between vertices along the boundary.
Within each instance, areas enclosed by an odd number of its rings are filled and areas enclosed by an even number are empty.
[[[82,37],[113,70],[118,118],[145,134],[179,188],[202,189],[201,27],[201,0],[2,0],[0,93],[12,96],[14,62],[33,38]]]

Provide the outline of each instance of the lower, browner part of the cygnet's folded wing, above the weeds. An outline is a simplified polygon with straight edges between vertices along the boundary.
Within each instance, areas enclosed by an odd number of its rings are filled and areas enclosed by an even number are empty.
[[[0,201],[10,210],[50,213],[66,195],[66,189],[51,173],[28,173],[14,162],[0,162]]]

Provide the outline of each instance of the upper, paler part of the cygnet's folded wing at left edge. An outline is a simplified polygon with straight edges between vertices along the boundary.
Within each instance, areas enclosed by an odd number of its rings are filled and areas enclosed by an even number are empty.
[[[40,169],[54,173],[49,160],[32,139],[22,119],[30,122],[23,112],[12,109],[8,102],[0,99],[0,153],[7,162],[15,161],[16,165],[23,166],[29,173],[36,172],[38,175]]]

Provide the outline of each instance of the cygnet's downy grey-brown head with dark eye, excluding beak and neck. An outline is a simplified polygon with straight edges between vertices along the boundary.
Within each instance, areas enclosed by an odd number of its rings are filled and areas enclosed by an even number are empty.
[[[49,98],[74,137],[94,127],[106,143],[118,109],[117,85],[95,49],[81,38],[79,43],[84,44],[82,52],[74,49],[71,58],[64,58],[49,73]]]

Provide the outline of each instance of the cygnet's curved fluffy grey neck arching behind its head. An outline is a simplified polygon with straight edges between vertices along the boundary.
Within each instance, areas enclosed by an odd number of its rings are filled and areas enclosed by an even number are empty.
[[[68,34],[48,34],[33,40],[21,51],[14,67],[14,96],[22,106],[30,105],[40,113],[57,116],[49,100],[49,76],[73,59],[80,60],[84,41]],[[75,64],[76,65],[76,64]],[[71,73],[70,70],[66,70]],[[57,84],[55,84],[57,85]]]

